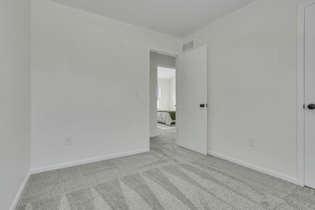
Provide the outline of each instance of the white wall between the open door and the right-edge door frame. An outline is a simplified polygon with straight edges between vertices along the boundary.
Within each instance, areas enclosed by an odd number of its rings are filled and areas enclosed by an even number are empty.
[[[208,46],[208,150],[293,178],[304,1],[256,0],[183,40]]]

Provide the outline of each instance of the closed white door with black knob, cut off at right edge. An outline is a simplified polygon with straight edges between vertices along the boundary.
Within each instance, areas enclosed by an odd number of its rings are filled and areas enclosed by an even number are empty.
[[[313,105],[312,105],[313,104]],[[305,185],[315,188],[315,4],[305,8]]]

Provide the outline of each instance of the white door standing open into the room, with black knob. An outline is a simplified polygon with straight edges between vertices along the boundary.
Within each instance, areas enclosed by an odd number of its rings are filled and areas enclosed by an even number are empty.
[[[203,104],[204,107],[200,107]],[[207,46],[178,56],[178,145],[207,154]]]

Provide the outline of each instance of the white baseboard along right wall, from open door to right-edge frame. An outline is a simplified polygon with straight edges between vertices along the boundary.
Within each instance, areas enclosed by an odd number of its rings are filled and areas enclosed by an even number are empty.
[[[266,169],[266,168],[263,168],[263,167],[260,167],[260,166],[256,166],[256,165],[253,165],[251,163],[244,162],[242,160],[237,160],[235,158],[232,158],[232,157],[229,157],[229,156],[225,156],[225,155],[222,155],[222,154],[219,154],[217,152],[210,151],[210,150],[208,150],[208,154],[216,156],[216,157],[219,157],[219,158],[224,159],[224,160],[228,160],[228,161],[230,161],[232,163],[236,163],[236,164],[241,165],[241,166],[245,166],[245,167],[253,169],[255,171],[259,171],[259,172],[262,172],[264,174],[268,174],[270,176],[277,177],[279,179],[286,180],[286,181],[292,182],[294,184],[297,184],[297,179],[294,178],[294,177],[290,177],[290,176],[287,176],[285,174],[281,174],[279,172],[276,172],[276,171],[273,171],[273,170],[270,170],[270,169]]]

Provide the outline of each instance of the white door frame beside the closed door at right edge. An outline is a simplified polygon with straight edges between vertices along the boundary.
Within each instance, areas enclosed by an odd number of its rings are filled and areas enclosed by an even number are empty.
[[[315,0],[308,0],[298,5],[297,24],[297,184],[304,186],[304,36],[305,36],[305,8],[315,4]]]

